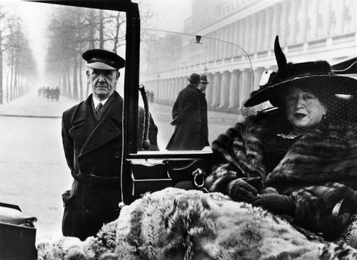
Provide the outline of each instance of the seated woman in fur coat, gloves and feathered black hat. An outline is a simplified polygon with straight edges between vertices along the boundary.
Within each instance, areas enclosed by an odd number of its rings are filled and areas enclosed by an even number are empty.
[[[357,212],[357,128],[346,120],[353,98],[336,94],[356,95],[357,80],[333,75],[326,61],[286,63],[277,39],[275,53],[278,72],[245,105],[268,100],[276,109],[213,142],[218,162],[205,185],[335,240]]]

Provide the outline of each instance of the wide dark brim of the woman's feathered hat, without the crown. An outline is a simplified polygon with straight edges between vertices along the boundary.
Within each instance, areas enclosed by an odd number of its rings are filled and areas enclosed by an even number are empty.
[[[326,91],[326,93],[356,95],[357,80],[347,76],[336,75],[316,75],[293,78],[291,80],[286,80],[282,83],[270,85],[266,88],[262,88],[261,90],[257,90],[257,92],[249,98],[246,103],[244,103],[244,106],[252,107],[265,101],[271,101],[271,103],[276,106],[277,104],[274,101],[284,95],[288,88],[308,88],[311,89],[312,92],[314,90],[323,90],[324,92]]]

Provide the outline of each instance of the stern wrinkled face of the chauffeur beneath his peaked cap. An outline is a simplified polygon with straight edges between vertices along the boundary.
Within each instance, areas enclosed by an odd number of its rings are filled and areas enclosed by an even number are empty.
[[[99,100],[109,98],[114,92],[114,88],[120,76],[116,70],[99,70],[88,68],[86,72],[88,82],[91,84],[93,95]]]

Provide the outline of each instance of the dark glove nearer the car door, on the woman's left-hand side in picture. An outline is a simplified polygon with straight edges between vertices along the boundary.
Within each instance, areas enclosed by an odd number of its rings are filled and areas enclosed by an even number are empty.
[[[258,194],[256,188],[242,179],[236,179],[229,182],[227,194],[236,202],[251,202]]]

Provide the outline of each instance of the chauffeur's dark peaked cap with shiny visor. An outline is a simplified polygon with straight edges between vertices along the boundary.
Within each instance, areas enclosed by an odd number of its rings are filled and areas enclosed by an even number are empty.
[[[92,49],[82,54],[82,58],[87,62],[89,68],[99,70],[119,70],[124,68],[125,61],[116,53],[101,49]]]

